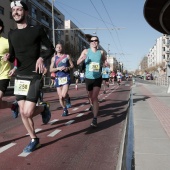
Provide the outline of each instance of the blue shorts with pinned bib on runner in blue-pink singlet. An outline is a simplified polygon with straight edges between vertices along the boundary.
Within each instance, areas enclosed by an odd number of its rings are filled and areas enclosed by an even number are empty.
[[[66,75],[65,77],[56,77],[55,78],[55,87],[61,87],[66,84],[68,84],[68,85],[71,84],[70,75]]]

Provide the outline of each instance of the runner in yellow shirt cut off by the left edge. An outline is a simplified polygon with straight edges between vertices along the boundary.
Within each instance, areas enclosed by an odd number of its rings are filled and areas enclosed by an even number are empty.
[[[11,103],[3,101],[2,97],[4,96],[7,87],[9,85],[11,76],[15,73],[16,60],[14,62],[14,68],[11,70],[11,64],[7,60],[9,57],[9,44],[8,39],[1,36],[4,30],[4,23],[0,19],[0,109],[5,109],[11,107]]]

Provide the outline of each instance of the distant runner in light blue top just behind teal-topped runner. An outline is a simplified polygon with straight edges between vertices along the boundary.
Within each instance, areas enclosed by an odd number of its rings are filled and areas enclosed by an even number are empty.
[[[103,93],[106,94],[106,86],[109,88],[110,68],[105,62],[102,67]]]

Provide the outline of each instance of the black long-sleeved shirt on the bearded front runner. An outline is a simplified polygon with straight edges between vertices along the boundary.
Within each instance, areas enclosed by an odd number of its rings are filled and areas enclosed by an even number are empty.
[[[15,29],[8,34],[10,61],[17,59],[17,74],[35,74],[36,61],[39,57],[50,58],[54,47],[48,39],[42,26],[27,26],[24,29]],[[41,53],[41,45],[47,49]]]

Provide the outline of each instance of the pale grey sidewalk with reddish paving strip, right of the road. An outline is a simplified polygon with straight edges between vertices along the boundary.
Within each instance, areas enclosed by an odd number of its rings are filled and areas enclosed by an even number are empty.
[[[167,87],[132,88],[135,170],[170,169],[170,94]]]

